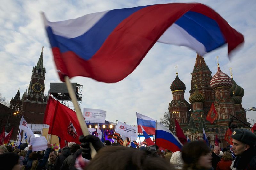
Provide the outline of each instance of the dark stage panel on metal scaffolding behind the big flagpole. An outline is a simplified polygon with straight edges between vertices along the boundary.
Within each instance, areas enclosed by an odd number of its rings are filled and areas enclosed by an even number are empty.
[[[71,84],[73,89],[75,90],[75,95],[76,95],[76,99],[79,104],[79,107],[81,108],[83,85],[80,85],[77,83],[71,83]],[[61,104],[75,111],[74,104],[72,103],[72,100],[70,98],[70,95],[68,93],[68,89],[65,83],[50,83],[49,92]]]

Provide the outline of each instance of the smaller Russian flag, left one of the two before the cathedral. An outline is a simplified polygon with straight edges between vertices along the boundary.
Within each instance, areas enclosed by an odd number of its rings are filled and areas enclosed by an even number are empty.
[[[137,116],[137,124],[138,124],[138,133],[143,133],[143,130],[140,127],[141,125],[144,128],[145,132],[147,132],[147,134],[155,135],[156,120],[137,112],[136,112],[136,116]]]

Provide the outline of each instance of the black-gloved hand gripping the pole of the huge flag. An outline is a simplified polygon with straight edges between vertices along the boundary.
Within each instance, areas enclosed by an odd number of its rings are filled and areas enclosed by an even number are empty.
[[[87,135],[87,136],[81,135],[79,137],[79,141],[81,142],[81,146],[82,146],[82,156],[83,158],[88,160],[91,159],[91,154],[90,154],[91,148],[89,147],[89,142],[92,143],[96,152],[98,152],[100,148],[104,147],[104,144],[101,142],[101,140],[94,135]]]

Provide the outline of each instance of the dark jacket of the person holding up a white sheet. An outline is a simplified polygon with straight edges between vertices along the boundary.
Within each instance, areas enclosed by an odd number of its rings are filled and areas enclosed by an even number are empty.
[[[49,154],[50,154],[51,148],[47,148],[46,151],[44,152],[44,157],[40,160],[38,160],[38,164],[37,164],[37,168],[36,170],[41,170],[43,169],[43,167],[45,166],[45,164],[47,163],[47,160],[49,158]],[[25,165],[25,170],[29,170],[31,169],[32,166],[32,162],[33,160],[29,160],[29,154],[32,152],[32,150],[28,150],[25,159],[23,160],[23,165]]]

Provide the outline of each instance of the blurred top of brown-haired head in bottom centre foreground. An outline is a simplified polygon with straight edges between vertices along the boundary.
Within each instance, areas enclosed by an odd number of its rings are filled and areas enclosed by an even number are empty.
[[[150,151],[115,146],[102,147],[89,164],[85,166],[85,170],[98,169],[170,170],[175,168],[165,159],[151,155]]]

